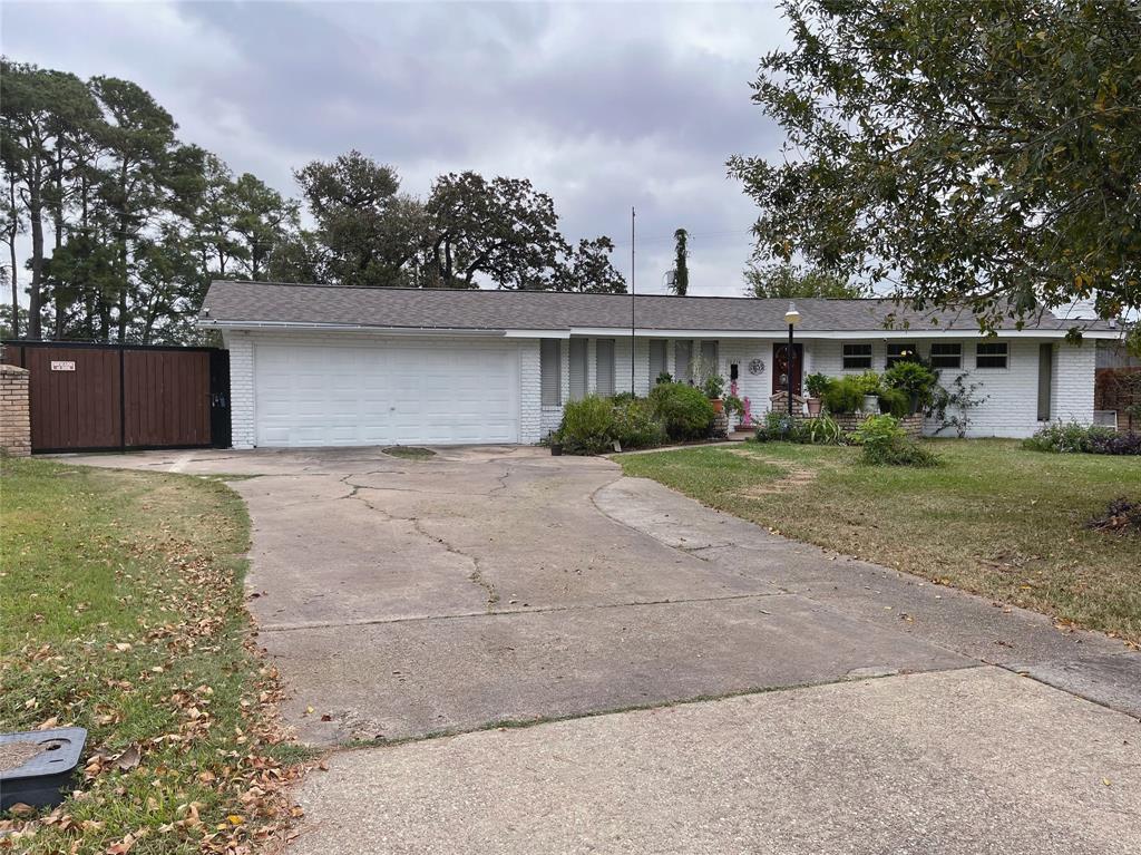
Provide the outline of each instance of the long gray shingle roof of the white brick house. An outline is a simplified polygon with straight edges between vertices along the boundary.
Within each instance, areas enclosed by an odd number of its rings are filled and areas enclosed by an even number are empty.
[[[788,301],[750,297],[634,298],[639,329],[783,332]],[[977,331],[969,310],[917,313],[891,300],[798,299],[800,330],[874,331],[893,315],[893,329]],[[337,288],[272,282],[211,283],[200,321],[338,324],[403,329],[567,330],[630,328],[628,295],[553,291],[454,291],[388,288]],[[1068,329],[1049,313],[1034,325]],[[1107,329],[1103,322],[1081,322]],[[1013,321],[1004,326],[1013,328]]]

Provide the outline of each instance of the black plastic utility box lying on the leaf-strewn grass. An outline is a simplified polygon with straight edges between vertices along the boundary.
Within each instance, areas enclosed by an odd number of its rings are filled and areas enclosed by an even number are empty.
[[[79,766],[84,742],[87,731],[82,727],[0,733],[0,757],[11,758],[0,764],[0,810],[19,804],[55,807],[63,801],[63,790]],[[21,761],[33,750],[34,756]]]

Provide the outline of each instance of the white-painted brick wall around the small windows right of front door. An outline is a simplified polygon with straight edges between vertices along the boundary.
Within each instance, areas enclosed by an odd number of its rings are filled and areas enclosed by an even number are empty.
[[[940,338],[939,341],[956,339]],[[963,382],[970,386],[978,384],[978,397],[986,401],[971,411],[971,426],[968,436],[1029,436],[1037,430],[1038,421],[1038,345],[1034,339],[993,339],[1008,342],[1008,363],[1005,369],[977,369],[974,366],[974,345],[978,339],[962,339],[962,368],[942,369],[941,382],[946,387],[960,374],[965,372]],[[882,372],[887,357],[887,344],[882,340],[872,341],[872,370]],[[916,336],[915,344],[920,355],[930,355],[931,340]],[[822,371],[830,377],[858,374],[859,371],[844,371],[842,368],[842,342],[817,341],[812,344],[815,358],[812,371]],[[1054,376],[1051,389],[1051,418],[1063,421],[1093,421],[1093,382],[1097,364],[1097,349],[1093,342],[1085,345],[1054,345]],[[933,433],[939,424],[928,420],[926,433]],[[942,436],[953,436],[954,429],[942,431]]]

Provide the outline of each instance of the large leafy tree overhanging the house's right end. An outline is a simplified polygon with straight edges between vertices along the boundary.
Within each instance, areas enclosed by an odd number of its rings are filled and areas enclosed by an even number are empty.
[[[984,326],[1141,306],[1141,5],[784,0],[753,100],[784,158],[736,156],[762,255]]]

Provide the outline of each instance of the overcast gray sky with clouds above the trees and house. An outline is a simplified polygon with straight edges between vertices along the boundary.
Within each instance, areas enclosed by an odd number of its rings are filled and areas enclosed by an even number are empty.
[[[424,194],[440,172],[529,178],[564,233],[609,235],[638,291],[663,291],[673,229],[690,293],[736,295],[753,205],[734,153],[783,137],[750,100],[786,40],[760,3],[11,2],[13,59],[139,83],[184,142],[290,195],[291,170],[359,148]]]

